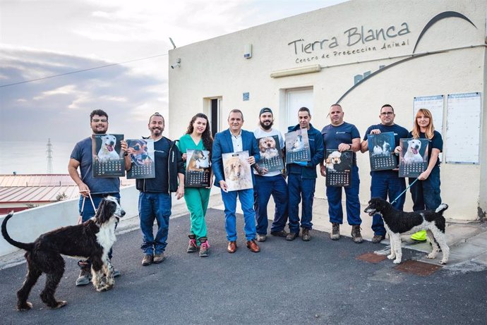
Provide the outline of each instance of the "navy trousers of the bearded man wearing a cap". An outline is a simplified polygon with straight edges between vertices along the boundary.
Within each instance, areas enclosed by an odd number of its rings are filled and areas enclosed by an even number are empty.
[[[267,203],[270,195],[274,199],[275,214],[270,231],[282,231],[287,222],[287,184],[282,175],[259,176],[255,175],[255,186],[253,187],[255,202],[255,221],[257,221],[257,233],[267,234]]]

